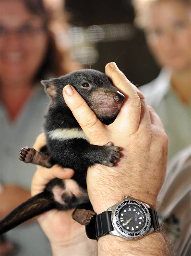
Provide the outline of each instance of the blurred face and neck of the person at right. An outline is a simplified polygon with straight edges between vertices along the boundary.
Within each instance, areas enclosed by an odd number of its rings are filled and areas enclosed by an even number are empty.
[[[172,91],[183,104],[191,100],[191,5],[187,1],[137,1],[139,23],[160,67],[170,71]],[[140,14],[139,14],[140,12]]]

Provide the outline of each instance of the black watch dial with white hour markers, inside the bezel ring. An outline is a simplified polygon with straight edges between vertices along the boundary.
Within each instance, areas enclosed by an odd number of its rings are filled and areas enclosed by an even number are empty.
[[[123,206],[118,218],[121,227],[129,232],[140,231],[145,226],[145,213],[135,204]]]

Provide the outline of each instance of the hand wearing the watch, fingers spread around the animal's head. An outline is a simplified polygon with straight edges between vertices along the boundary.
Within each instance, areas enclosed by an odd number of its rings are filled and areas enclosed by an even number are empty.
[[[116,120],[101,123],[83,98],[73,89],[63,96],[91,144],[111,141],[122,149],[115,167],[94,164],[87,172],[87,189],[97,214],[116,204],[124,196],[156,207],[158,192],[166,172],[168,139],[156,112],[147,106],[143,94],[129,82],[114,62],[106,65],[106,75],[125,95]]]

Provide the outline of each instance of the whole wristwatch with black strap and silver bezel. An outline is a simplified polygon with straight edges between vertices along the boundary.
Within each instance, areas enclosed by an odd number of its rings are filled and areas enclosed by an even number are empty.
[[[90,239],[99,239],[110,234],[127,240],[137,240],[159,229],[156,210],[129,196],[108,208],[106,212],[94,216],[85,227]]]

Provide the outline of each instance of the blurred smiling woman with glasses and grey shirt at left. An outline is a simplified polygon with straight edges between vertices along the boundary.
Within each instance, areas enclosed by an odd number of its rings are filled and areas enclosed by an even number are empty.
[[[39,81],[79,69],[67,44],[56,41],[57,32],[64,34],[68,25],[63,6],[56,9],[55,4],[51,9],[50,1],[0,2],[0,219],[30,197],[35,166],[26,167],[18,153],[32,146],[42,130],[49,99]],[[0,255],[8,255],[13,244],[14,256],[51,255],[34,222],[1,237]]]

